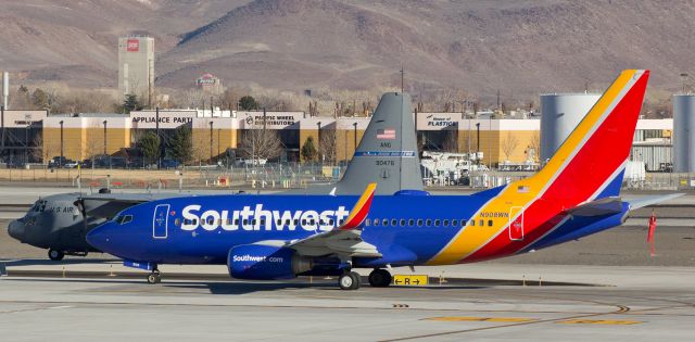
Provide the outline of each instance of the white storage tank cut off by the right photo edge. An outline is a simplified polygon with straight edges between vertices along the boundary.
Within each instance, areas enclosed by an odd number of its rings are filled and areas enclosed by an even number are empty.
[[[673,168],[695,172],[695,96],[673,96]]]

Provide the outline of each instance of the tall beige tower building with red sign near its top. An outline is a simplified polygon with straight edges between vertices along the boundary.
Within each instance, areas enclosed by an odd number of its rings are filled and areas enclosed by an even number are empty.
[[[118,38],[118,94],[135,94],[152,103],[154,91],[154,38]]]

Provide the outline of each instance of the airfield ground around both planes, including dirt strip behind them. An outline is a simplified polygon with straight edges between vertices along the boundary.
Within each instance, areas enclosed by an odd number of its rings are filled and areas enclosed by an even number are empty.
[[[60,191],[60,189],[55,189]],[[28,193],[28,192],[27,192]],[[11,197],[0,191],[2,200]],[[31,194],[26,199],[33,201]],[[692,341],[695,197],[657,208],[657,255],[646,218],[500,261],[416,267],[427,287],[341,291],[336,279],[230,279],[225,266],[144,271],[109,255],[54,263],[0,230],[0,337],[7,341]],[[21,210],[1,207],[7,227]],[[362,270],[366,276],[369,270]],[[412,271],[394,269],[394,274]]]

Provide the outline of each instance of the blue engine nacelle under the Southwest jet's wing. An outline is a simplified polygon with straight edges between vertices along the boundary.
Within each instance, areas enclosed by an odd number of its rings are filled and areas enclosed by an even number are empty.
[[[311,258],[282,246],[244,244],[232,248],[227,255],[229,275],[238,279],[290,279],[313,266]]]

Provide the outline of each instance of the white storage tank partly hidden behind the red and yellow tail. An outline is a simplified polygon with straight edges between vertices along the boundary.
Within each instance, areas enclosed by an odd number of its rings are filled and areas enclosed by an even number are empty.
[[[549,160],[598,101],[598,93],[541,96],[541,163]]]

